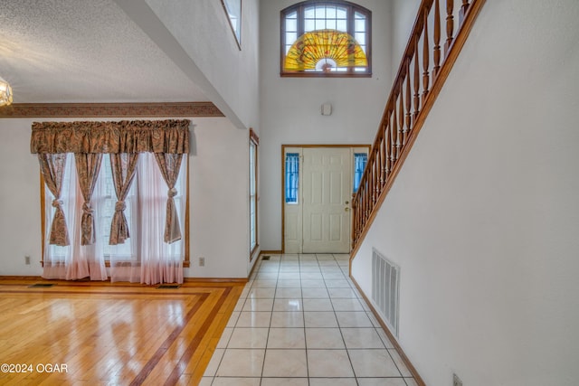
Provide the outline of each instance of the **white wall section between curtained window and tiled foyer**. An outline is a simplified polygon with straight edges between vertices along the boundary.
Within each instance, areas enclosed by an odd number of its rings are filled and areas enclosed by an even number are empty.
[[[249,132],[225,118],[192,118],[190,259],[185,277],[247,278]],[[197,267],[199,257],[205,267]],[[255,259],[253,260],[253,263]]]

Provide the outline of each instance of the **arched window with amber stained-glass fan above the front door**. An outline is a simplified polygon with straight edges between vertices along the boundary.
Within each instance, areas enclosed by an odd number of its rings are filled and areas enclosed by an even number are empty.
[[[360,5],[308,0],[281,11],[281,76],[371,76],[372,13]]]

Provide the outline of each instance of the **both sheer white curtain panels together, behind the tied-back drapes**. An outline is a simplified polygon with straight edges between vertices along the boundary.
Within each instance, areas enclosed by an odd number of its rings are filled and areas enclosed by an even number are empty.
[[[179,226],[185,230],[185,193],[187,162],[181,170],[174,197]],[[82,198],[78,183],[74,155],[67,155],[62,183],[62,210],[69,228],[70,245],[61,247],[49,244],[52,225],[52,193],[45,189],[44,227],[45,254],[43,278],[75,280],[107,280],[105,261],[110,261],[110,280],[140,282],[144,284],[183,283],[185,238],[173,243],[164,241],[167,185],[155,155],[139,155],[137,174],[125,203],[130,237],[119,245],[109,245],[110,221],[117,197],[105,170],[110,171],[109,155],[103,163],[90,200],[94,209],[95,239],[90,245],[81,245]]]

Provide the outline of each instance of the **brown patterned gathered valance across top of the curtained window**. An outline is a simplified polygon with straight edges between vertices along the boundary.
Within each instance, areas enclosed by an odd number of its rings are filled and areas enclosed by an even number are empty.
[[[31,153],[189,153],[188,119],[34,122]]]

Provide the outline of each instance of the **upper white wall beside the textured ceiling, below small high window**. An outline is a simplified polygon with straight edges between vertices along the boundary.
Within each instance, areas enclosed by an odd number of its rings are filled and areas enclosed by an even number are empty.
[[[243,127],[259,132],[259,0],[242,1],[241,50],[220,0],[147,0],[147,4],[195,61],[216,97],[233,110],[230,120],[239,118]],[[147,26],[144,29],[147,32]]]

